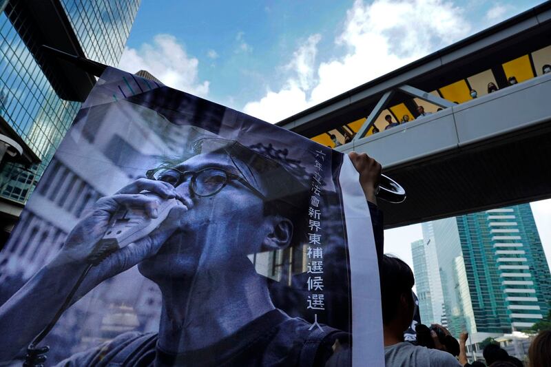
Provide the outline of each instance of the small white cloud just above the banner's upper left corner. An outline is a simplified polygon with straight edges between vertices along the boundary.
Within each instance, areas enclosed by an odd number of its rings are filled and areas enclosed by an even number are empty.
[[[198,65],[171,34],[157,34],[152,44],[143,43],[139,49],[125,48],[118,63],[127,72],[147,70],[169,87],[207,96],[209,81],[199,80]]]

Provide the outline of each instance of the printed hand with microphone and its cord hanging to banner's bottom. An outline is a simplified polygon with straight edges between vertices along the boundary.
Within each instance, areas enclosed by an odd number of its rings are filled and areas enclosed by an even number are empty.
[[[155,255],[180,227],[180,218],[191,205],[191,200],[177,193],[172,185],[147,178],[135,180],[113,196],[99,199],[69,233],[50,264],[52,269],[59,269],[60,265],[61,269],[73,266],[83,269],[50,322],[32,339],[23,365],[41,366],[49,347],[38,345],[63,311],[103,280]],[[28,330],[29,335],[32,333],[33,330]]]

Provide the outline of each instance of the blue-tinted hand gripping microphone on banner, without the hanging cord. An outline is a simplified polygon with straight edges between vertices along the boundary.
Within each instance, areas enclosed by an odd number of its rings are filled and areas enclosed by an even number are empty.
[[[172,185],[139,178],[99,199],[68,235],[61,253],[96,265],[102,277],[116,275],[154,255],[192,205]]]

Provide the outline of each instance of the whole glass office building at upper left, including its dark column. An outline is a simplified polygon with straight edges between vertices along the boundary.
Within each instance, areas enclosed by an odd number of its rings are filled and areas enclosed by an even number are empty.
[[[27,158],[1,162],[2,219],[17,218],[5,208],[24,205],[94,83],[40,46],[117,65],[139,4],[0,0],[0,133],[17,138]]]

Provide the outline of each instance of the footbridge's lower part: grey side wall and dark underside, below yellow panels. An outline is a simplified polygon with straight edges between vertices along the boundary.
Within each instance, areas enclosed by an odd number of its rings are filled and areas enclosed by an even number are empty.
[[[389,227],[549,198],[551,74],[337,147],[367,153],[408,194]],[[382,203],[384,205],[384,203]]]

